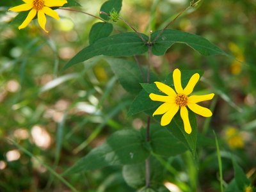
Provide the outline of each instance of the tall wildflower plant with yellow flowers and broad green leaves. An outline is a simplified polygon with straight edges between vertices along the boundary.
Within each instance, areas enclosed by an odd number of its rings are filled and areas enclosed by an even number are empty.
[[[80,12],[61,8],[62,6],[80,6],[74,0],[23,1],[25,4],[10,8],[10,11],[20,12],[12,22],[12,24],[22,22],[19,29],[26,28],[31,20],[36,19],[37,14],[40,27],[46,31],[45,14],[54,19],[60,19],[58,13],[52,9],[60,8],[61,10]],[[175,17],[172,22],[177,20],[182,13],[195,8],[200,3],[202,3],[201,0],[197,2],[191,1],[188,8]],[[166,51],[175,43],[186,44],[202,56],[220,54],[232,58],[232,56],[229,56],[202,36],[167,29],[172,22],[159,31],[148,31],[149,35],[139,33],[129,22],[120,17],[121,8],[122,0],[110,0],[102,4],[99,10],[100,17],[82,12],[95,17],[100,22],[93,24],[92,29],[90,29],[89,45],[77,52],[61,68],[59,76],[63,72],[67,72],[68,68],[79,65],[84,61],[95,59],[98,56],[96,59],[101,58],[109,63],[122,87],[135,96],[132,102],[127,102],[131,106],[126,118],[131,118],[131,116],[141,113],[146,116],[147,125],[142,126],[140,131],[122,129],[114,132],[102,145],[93,148],[86,156],[68,167],[61,175],[44,164],[52,174],[64,182],[72,191],[77,191],[77,189],[63,179],[63,176],[115,165],[123,167],[122,175],[124,180],[128,186],[134,188],[134,191],[168,191],[166,186],[163,185],[163,178],[158,177],[158,175],[163,174],[163,164],[168,164],[164,158],[186,154],[186,151],[189,151],[193,157],[195,167],[198,166],[199,160],[196,154],[198,127],[195,114],[210,117],[214,111],[199,106],[197,103],[211,100],[214,97],[214,93],[212,93],[214,91],[209,91],[204,95],[193,95],[195,85],[204,75],[204,70],[182,70],[180,66],[173,72],[170,71],[165,80],[159,79],[154,72],[150,71],[150,58],[152,55],[164,56]],[[115,25],[115,22],[121,21],[131,27],[134,32],[120,33],[116,29],[115,35],[111,35],[115,28],[113,24]],[[46,32],[48,33],[48,31]],[[147,68],[141,67],[141,63],[137,58],[138,55],[143,54],[147,58]],[[124,57],[131,57],[131,60],[125,60]],[[104,121],[108,122],[108,119]],[[102,127],[98,127],[97,132],[100,132]],[[58,136],[61,137],[61,134]],[[95,136],[92,136],[90,141]],[[59,149],[61,141],[58,142]],[[15,141],[12,142],[17,147],[20,147]],[[81,143],[74,150],[75,153],[83,150],[84,146],[86,147],[87,145],[88,143],[86,142]],[[25,148],[21,149],[28,156],[33,156]],[[250,182],[234,159],[233,165],[236,172],[234,181],[236,183],[234,184],[233,182],[228,185],[227,189],[232,191],[239,188],[248,191]],[[141,177],[136,177],[136,175]],[[221,185],[222,188],[223,186]]]

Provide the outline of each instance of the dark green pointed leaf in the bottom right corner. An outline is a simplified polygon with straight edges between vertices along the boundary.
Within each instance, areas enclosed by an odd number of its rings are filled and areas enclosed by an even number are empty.
[[[232,158],[232,163],[235,169],[236,186],[241,191],[244,191],[244,188],[246,188],[247,186],[250,186],[250,180],[246,177],[242,168],[236,163],[234,158]]]

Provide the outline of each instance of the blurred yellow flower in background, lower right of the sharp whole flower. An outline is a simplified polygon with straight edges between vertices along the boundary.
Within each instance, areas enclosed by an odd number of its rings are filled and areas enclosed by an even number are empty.
[[[225,131],[225,137],[227,138],[227,143],[230,148],[244,147],[244,140],[236,127],[228,127]]]

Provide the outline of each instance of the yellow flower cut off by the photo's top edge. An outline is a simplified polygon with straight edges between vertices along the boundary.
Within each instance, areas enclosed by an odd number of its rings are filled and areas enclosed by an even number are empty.
[[[24,20],[24,22],[19,26],[19,29],[26,28],[28,26],[29,22],[36,16],[38,17],[38,22],[42,29],[45,30],[45,24],[46,24],[46,15],[49,15],[53,17],[54,19],[59,20],[60,17],[57,12],[52,10],[49,7],[52,6],[63,6],[63,4],[68,3],[67,1],[60,1],[60,0],[22,0],[25,3],[20,4],[19,6],[15,6],[13,8],[10,8],[13,12],[24,12],[31,10],[28,13],[28,17]],[[48,31],[46,31],[48,33]]]

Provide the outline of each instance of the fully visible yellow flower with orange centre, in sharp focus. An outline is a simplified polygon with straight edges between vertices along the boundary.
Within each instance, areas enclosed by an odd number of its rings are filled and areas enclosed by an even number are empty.
[[[199,115],[212,116],[212,112],[209,109],[198,106],[198,104],[196,103],[212,99],[214,93],[211,93],[209,95],[193,95],[188,97],[188,95],[193,92],[195,84],[198,82],[200,76],[197,73],[194,74],[189,80],[189,83],[187,84],[186,88],[184,88],[184,90],[181,86],[180,77],[180,70],[176,68],[173,72],[173,83],[176,92],[166,84],[155,82],[157,88],[159,88],[159,90],[161,90],[168,96],[150,93],[149,97],[151,100],[164,102],[164,104],[159,106],[159,108],[157,108],[153,114],[153,116],[164,114],[161,118],[162,126],[170,124],[173,116],[179,111],[180,108],[180,116],[183,120],[185,131],[188,134],[190,134],[191,125],[189,123],[188,109],[186,108],[186,106],[188,106],[188,108],[191,109],[191,111]]]

